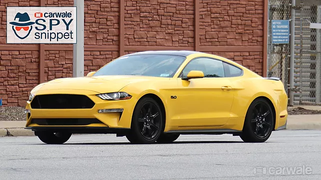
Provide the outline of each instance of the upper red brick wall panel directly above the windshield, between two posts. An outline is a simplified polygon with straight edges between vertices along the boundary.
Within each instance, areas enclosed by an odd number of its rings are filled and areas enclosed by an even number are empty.
[[[194,46],[194,0],[125,0],[125,45]]]

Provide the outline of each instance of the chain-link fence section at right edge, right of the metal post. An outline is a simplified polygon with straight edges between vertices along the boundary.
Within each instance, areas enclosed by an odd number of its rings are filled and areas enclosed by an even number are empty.
[[[321,105],[321,6],[303,1],[295,12],[294,103]]]

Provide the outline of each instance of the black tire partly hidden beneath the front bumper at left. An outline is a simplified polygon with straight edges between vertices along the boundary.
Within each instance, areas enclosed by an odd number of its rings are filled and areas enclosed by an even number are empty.
[[[45,144],[63,144],[69,140],[71,134],[65,132],[38,132],[37,136]]]

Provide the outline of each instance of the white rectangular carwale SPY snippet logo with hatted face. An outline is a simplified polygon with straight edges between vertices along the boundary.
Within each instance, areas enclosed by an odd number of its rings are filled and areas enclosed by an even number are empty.
[[[6,43],[76,43],[76,7],[7,7]]]

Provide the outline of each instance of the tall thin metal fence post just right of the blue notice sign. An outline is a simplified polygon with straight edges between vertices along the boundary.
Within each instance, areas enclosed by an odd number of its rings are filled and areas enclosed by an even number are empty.
[[[289,106],[293,106],[294,101],[294,37],[295,37],[295,0],[292,0],[291,3],[291,29],[290,29],[290,62],[289,62],[289,84],[290,90],[288,93],[289,97]]]

